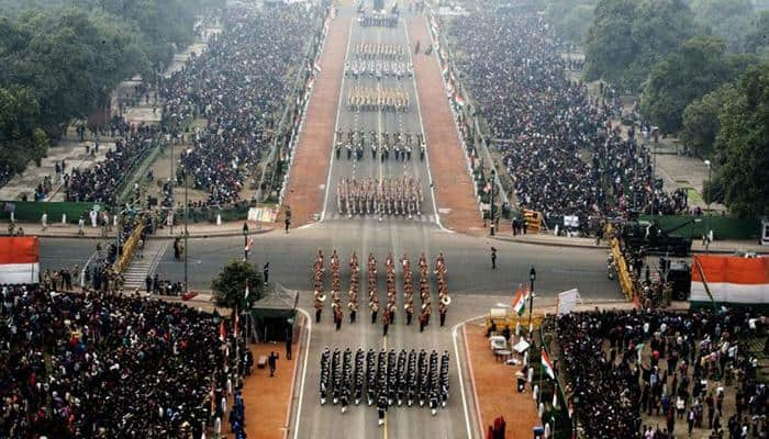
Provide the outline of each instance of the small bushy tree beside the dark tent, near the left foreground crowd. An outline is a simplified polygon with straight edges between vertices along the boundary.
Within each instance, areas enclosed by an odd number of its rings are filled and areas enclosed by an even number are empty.
[[[248,297],[245,296],[246,281],[248,282]],[[264,295],[265,283],[261,273],[248,261],[231,260],[213,279],[211,290],[220,306],[241,309],[250,308],[250,305]]]

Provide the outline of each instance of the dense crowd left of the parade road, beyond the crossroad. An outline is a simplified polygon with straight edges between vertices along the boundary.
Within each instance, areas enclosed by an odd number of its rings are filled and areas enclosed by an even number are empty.
[[[170,78],[152,78],[158,83],[157,92],[136,86],[131,103],[163,102],[159,126],[113,117],[109,131],[102,127],[100,133],[115,137],[114,149],[90,169],[63,175],[66,200],[113,204],[115,191],[135,170],[134,164],[160,142],[187,140],[189,148],[182,150],[176,167],[177,184],[187,170],[194,187],[209,193],[207,204],[237,202],[246,176],[271,146],[277,119],[293,87],[292,71],[305,68],[305,44],[313,31],[320,32],[325,11],[325,3],[230,8],[224,31],[209,37],[207,50],[192,54]],[[189,122],[197,117],[205,119],[207,125],[190,132]],[[85,131],[85,125],[78,127],[81,138]],[[93,132],[93,154],[99,148],[98,134]],[[164,190],[161,204],[170,207],[172,190],[165,189],[169,190]]]

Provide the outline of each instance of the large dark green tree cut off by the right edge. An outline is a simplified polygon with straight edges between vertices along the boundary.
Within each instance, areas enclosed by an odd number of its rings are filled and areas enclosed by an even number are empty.
[[[743,75],[718,120],[713,193],[739,216],[769,215],[769,61]]]

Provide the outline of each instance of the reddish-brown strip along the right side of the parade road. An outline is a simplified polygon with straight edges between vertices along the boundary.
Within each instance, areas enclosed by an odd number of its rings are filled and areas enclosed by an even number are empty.
[[[430,44],[430,31],[423,16],[409,19],[409,41],[412,46]],[[430,169],[435,184],[435,202],[441,210],[441,223],[455,232],[479,234],[483,222],[472,196],[473,185],[467,173],[465,154],[446,99],[441,70],[435,58],[414,56],[416,92],[422,110],[422,123],[430,154]]]

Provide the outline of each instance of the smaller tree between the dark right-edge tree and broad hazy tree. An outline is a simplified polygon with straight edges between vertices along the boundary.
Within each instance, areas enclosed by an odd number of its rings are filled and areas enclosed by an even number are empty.
[[[721,88],[695,99],[683,111],[683,124],[679,138],[701,158],[710,157],[715,146],[715,138],[721,131],[718,114],[725,102],[734,99],[734,85]]]

